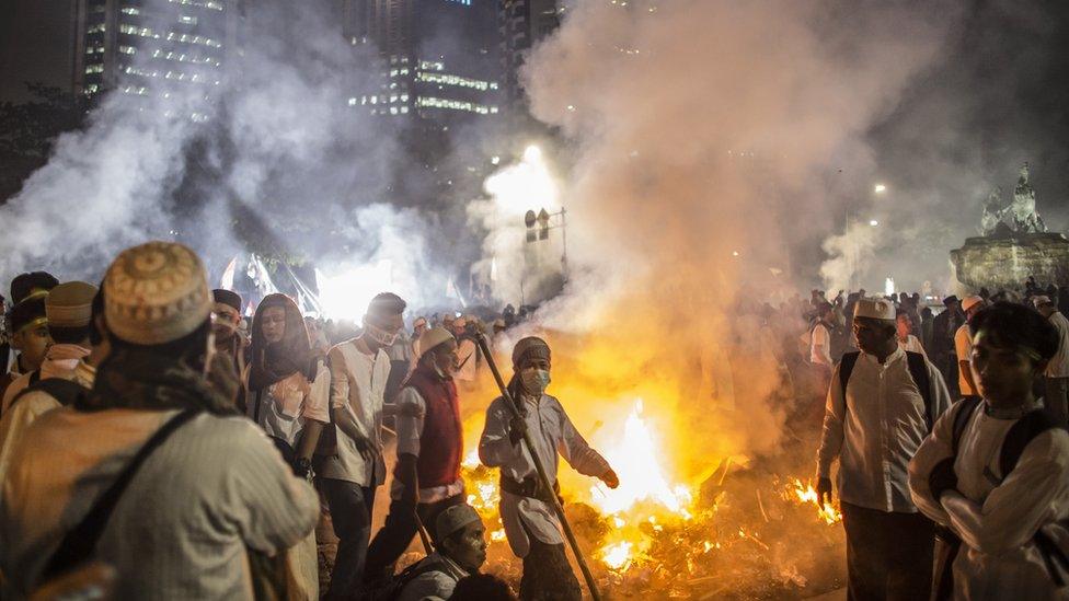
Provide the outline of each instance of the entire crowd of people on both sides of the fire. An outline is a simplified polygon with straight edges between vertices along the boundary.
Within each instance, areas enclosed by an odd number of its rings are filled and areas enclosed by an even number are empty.
[[[354,326],[268,294],[245,317],[193,251],[163,242],[120,253],[100,286],[34,271],[10,292],[4,598],[516,598],[480,573],[486,529],[460,469],[480,337],[515,325],[510,308],[413,316],[382,292]],[[841,508],[851,599],[1069,597],[1067,302],[1030,281],[934,307],[814,290],[746,309],[790,419],[819,432],[817,492]],[[499,471],[518,597],[578,600],[545,482],[560,458],[619,478],[545,393],[547,342],[519,339],[511,363],[478,455]],[[324,513],[338,543],[320,590]],[[413,541],[425,557],[399,570]]]

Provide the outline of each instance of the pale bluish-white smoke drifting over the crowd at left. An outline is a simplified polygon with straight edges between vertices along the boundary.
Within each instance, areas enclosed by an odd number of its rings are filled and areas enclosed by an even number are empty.
[[[147,4],[146,13],[177,10]],[[48,268],[61,279],[99,278],[123,247],[172,239],[216,274],[245,250],[314,259],[335,274],[390,259],[391,281],[415,288],[412,270],[427,267],[427,220],[382,204],[391,165],[404,161],[396,131],[347,102],[377,88],[377,53],[350,45],[329,7],[248,7],[218,85],[120,79],[87,127],[64,135],[49,163],[0,207],[0,277]],[[135,69],[162,69],[151,60],[161,42],[145,41]],[[123,93],[127,85],[149,94]],[[399,230],[403,259],[380,249]]]

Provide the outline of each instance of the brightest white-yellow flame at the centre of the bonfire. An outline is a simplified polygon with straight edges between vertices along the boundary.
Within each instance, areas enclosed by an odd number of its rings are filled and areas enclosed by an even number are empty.
[[[635,401],[624,424],[623,437],[607,450],[605,458],[620,476],[620,486],[614,490],[601,485],[590,490],[595,505],[605,513],[627,511],[639,501],[652,500],[685,519],[690,518],[687,509],[692,495],[686,486],[669,486],[663,466],[665,453],[642,418],[641,398]]]

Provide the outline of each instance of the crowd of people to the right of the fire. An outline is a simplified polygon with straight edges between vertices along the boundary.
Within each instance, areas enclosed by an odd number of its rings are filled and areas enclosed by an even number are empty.
[[[1030,280],[933,316],[813,291],[817,493],[837,493],[849,599],[1069,598],[1067,300]]]

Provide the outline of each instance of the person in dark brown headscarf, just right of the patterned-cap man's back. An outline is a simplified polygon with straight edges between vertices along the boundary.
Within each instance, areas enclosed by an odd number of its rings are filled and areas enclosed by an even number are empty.
[[[311,348],[300,309],[285,294],[268,294],[252,319],[252,362],[242,379],[245,412],[294,473],[311,482],[312,455],[330,423],[331,372]],[[319,599],[319,564],[312,532],[286,554],[287,581],[301,599]]]

